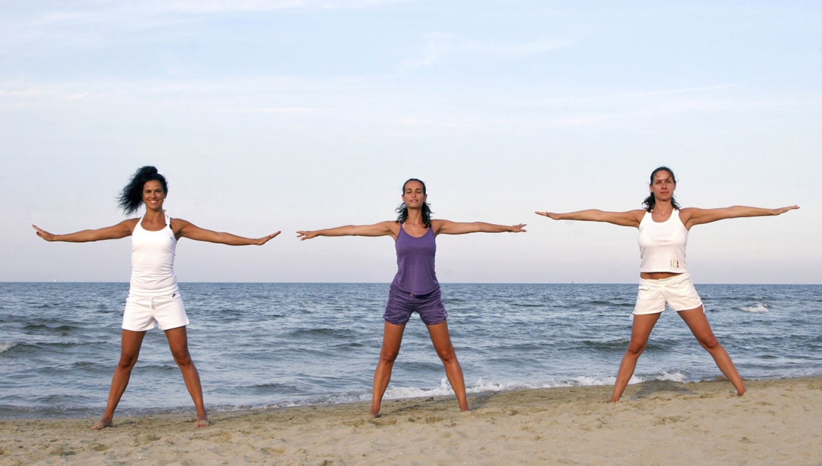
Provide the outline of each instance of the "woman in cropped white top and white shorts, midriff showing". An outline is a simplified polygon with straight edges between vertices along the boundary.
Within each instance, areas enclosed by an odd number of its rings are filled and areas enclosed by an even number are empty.
[[[738,217],[760,217],[780,215],[788,210],[798,209],[797,205],[778,209],[761,209],[734,205],[721,209],[680,209],[673,198],[677,180],[670,168],[653,170],[650,178],[650,195],[645,199],[645,209],[626,212],[605,212],[603,210],[580,210],[556,214],[537,212],[555,220],[586,220],[607,222],[624,227],[640,229],[640,292],[633,314],[630,343],[617,373],[611,401],[618,401],[630,377],[634,375],[636,361],[648,344],[648,338],[659,315],[667,304],[686,321],[688,328],[708,350],[719,370],[727,376],[737,394],[745,393],[745,385],[734,367],[730,356],[717,341],[704,313],[704,307],[696,294],[685,262],[685,247],[688,231],[699,224],[708,224],[722,219]]]

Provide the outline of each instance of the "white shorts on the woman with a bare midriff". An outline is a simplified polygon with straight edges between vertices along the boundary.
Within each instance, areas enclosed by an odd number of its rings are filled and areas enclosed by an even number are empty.
[[[658,314],[665,310],[666,303],[672,311],[688,311],[702,306],[702,300],[696,293],[690,274],[658,280],[640,279],[632,315]]]

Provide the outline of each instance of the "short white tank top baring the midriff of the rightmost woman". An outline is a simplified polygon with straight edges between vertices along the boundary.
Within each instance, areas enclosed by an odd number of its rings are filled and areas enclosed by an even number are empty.
[[[654,222],[650,212],[645,212],[640,222],[640,272],[672,272],[684,274],[685,247],[688,230],[674,209],[664,222]]]

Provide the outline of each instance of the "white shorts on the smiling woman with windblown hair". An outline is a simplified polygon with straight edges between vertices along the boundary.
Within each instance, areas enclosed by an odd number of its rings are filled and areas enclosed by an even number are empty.
[[[144,332],[154,328],[176,329],[188,325],[186,307],[182,305],[180,293],[171,296],[134,296],[126,298],[126,309],[122,312],[122,328]]]

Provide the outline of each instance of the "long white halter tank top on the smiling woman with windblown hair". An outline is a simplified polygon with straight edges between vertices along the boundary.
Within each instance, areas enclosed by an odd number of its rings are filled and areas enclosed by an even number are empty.
[[[165,216],[165,228],[151,232],[142,227],[141,218],[132,232],[132,283],[129,293],[137,296],[166,296],[178,293],[174,276],[174,253],[177,238],[171,230],[171,219]]]

